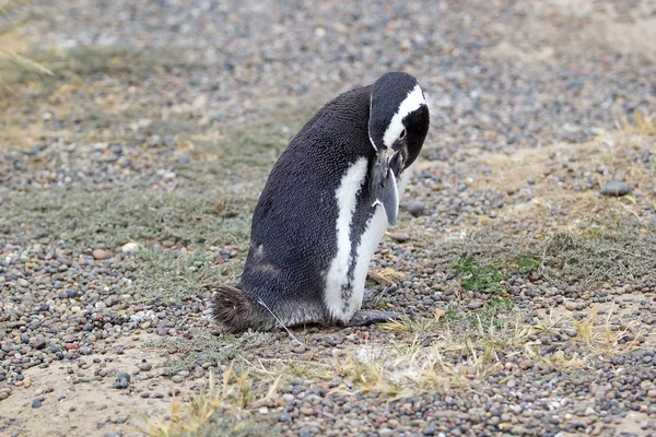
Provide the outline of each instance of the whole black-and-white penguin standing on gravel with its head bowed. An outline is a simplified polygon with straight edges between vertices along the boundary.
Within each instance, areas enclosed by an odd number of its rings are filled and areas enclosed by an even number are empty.
[[[403,72],[319,109],[269,175],[241,281],[212,298],[215,319],[243,331],[396,316],[360,308],[368,264],[396,223],[429,119],[422,88]]]

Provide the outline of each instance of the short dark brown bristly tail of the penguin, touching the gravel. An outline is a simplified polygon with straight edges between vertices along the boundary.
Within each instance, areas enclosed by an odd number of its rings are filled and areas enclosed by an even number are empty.
[[[214,319],[230,332],[256,328],[260,324],[260,312],[248,296],[234,286],[220,286],[212,297]]]

